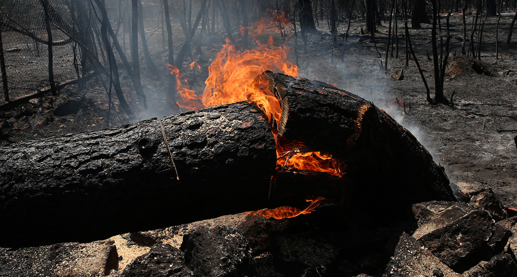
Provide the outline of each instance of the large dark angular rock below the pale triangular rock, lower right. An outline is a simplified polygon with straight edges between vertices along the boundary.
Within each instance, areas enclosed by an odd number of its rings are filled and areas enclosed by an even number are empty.
[[[418,241],[451,269],[463,272],[494,255],[488,244],[494,230],[494,220],[487,211],[473,210]]]

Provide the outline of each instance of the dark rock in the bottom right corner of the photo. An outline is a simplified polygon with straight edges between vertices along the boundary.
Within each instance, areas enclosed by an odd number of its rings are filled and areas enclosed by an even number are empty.
[[[465,277],[513,277],[517,275],[517,265],[506,253],[494,256],[488,262],[481,262],[465,272]]]

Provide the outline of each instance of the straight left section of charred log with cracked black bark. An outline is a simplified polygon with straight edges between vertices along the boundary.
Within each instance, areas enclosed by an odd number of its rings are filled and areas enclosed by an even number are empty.
[[[0,151],[0,245],[91,241],[263,208],[275,143],[254,104]]]

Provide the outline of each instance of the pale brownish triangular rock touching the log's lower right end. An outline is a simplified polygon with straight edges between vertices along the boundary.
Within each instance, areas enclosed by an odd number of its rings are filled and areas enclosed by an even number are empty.
[[[430,201],[413,205],[413,214],[418,220],[418,228],[413,237],[419,239],[436,229],[440,229],[454,220],[458,220],[473,207],[462,202]]]

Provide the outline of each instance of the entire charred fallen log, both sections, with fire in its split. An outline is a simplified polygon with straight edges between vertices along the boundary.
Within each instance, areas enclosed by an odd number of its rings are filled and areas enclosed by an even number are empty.
[[[100,239],[309,196],[356,217],[454,200],[429,153],[372,103],[272,72],[253,86],[267,96],[257,105],[278,113],[238,102],[1,149],[0,246]]]

